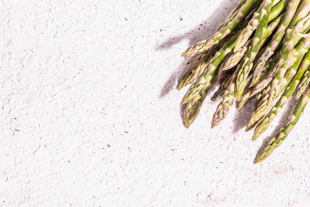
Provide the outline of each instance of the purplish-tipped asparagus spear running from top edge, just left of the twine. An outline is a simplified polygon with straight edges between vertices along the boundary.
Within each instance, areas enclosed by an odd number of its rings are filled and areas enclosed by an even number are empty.
[[[307,6],[303,6],[305,5],[305,1],[303,1],[301,5],[299,6],[300,1],[301,0],[290,0],[288,2],[287,10],[285,12],[285,15],[282,19],[280,26],[278,27],[275,34],[272,36],[268,46],[265,47],[263,54],[258,59],[258,62],[255,65],[254,80],[256,80],[256,76],[258,76],[258,74],[263,69],[263,66],[265,65],[267,60],[273,55],[274,51],[279,46],[280,42],[282,41],[285,35],[286,29],[288,27],[290,28],[294,27],[297,24],[298,20],[301,19],[300,17],[305,17],[305,15],[307,15],[305,13],[308,13],[309,8]],[[297,13],[296,13],[296,10],[297,10]]]

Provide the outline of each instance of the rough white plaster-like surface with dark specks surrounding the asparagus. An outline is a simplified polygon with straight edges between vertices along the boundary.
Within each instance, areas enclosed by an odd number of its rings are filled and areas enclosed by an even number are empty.
[[[256,165],[251,104],[183,126],[180,54],[236,3],[2,0],[0,206],[310,206],[310,107]]]

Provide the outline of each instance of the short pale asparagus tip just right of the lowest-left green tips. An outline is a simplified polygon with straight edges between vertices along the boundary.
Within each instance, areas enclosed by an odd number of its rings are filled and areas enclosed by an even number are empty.
[[[213,115],[211,128],[217,126],[226,117],[227,113],[229,112],[229,107],[231,107],[234,103],[235,81],[237,78],[237,71],[238,68],[230,78],[229,85],[223,94],[222,101],[217,105],[216,111]]]

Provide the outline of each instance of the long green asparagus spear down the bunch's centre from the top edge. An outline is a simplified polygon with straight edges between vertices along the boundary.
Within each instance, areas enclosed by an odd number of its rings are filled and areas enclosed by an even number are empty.
[[[264,37],[264,33],[266,31],[266,27],[268,25],[268,18],[269,18],[269,12],[272,8],[272,3],[274,2],[274,0],[264,0],[262,2],[261,5],[261,9],[260,11],[258,11],[258,15],[257,15],[257,19],[256,21],[253,22],[257,22],[254,24],[257,24],[257,29],[252,41],[252,45],[249,48],[249,51],[247,53],[247,56],[244,60],[244,63],[242,65],[242,67],[240,68],[239,72],[238,72],[238,76],[236,79],[236,100],[240,101],[241,95],[243,93],[243,91],[245,90],[246,87],[246,80],[248,78],[248,75],[253,67],[253,62],[258,54],[259,49],[261,48],[261,42],[263,40]],[[246,31],[246,29],[245,29]],[[239,36],[240,38],[240,36]],[[238,38],[238,39],[239,39]],[[238,41],[238,40],[237,40]],[[237,47],[238,42],[236,43],[235,49]]]

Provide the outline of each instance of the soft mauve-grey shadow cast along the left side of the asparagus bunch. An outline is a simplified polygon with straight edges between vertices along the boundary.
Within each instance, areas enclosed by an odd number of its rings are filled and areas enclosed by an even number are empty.
[[[198,41],[207,39],[212,34],[214,34],[214,32],[217,29],[217,26],[226,19],[226,17],[231,12],[231,10],[233,10],[235,5],[237,5],[238,0],[235,0],[235,1],[236,2],[234,4],[232,4],[230,7],[219,6],[207,18],[207,20],[202,21],[201,24],[197,25],[196,27],[191,29],[191,31],[188,31],[188,32],[186,32],[183,35],[171,37],[169,40],[167,40],[167,41],[163,42],[162,44],[160,44],[159,46],[157,46],[156,50],[167,50],[167,49],[171,48],[171,46],[173,46],[175,44],[178,44],[179,42],[181,42],[184,39],[188,39],[189,40],[189,44],[188,44],[188,47],[187,47],[187,48],[189,48],[190,46],[194,45]],[[224,0],[221,5],[227,5],[228,2],[231,2],[231,0]],[[206,4],[207,4],[207,2],[206,2]],[[231,3],[229,3],[229,4],[231,4]],[[220,16],[220,17],[215,19],[214,16],[216,16],[216,17]],[[184,50],[180,51],[180,55],[187,48],[184,48]],[[167,82],[165,83],[165,85],[163,86],[163,88],[162,88],[162,90],[160,92],[159,98],[163,98],[172,89],[176,89],[174,87],[176,81],[177,81],[177,83],[179,83],[180,78],[186,72],[187,68],[193,62],[195,57],[184,58],[184,61],[181,64],[179,64],[179,66],[177,67],[176,71],[174,71],[170,75],[170,77],[168,78]]]

